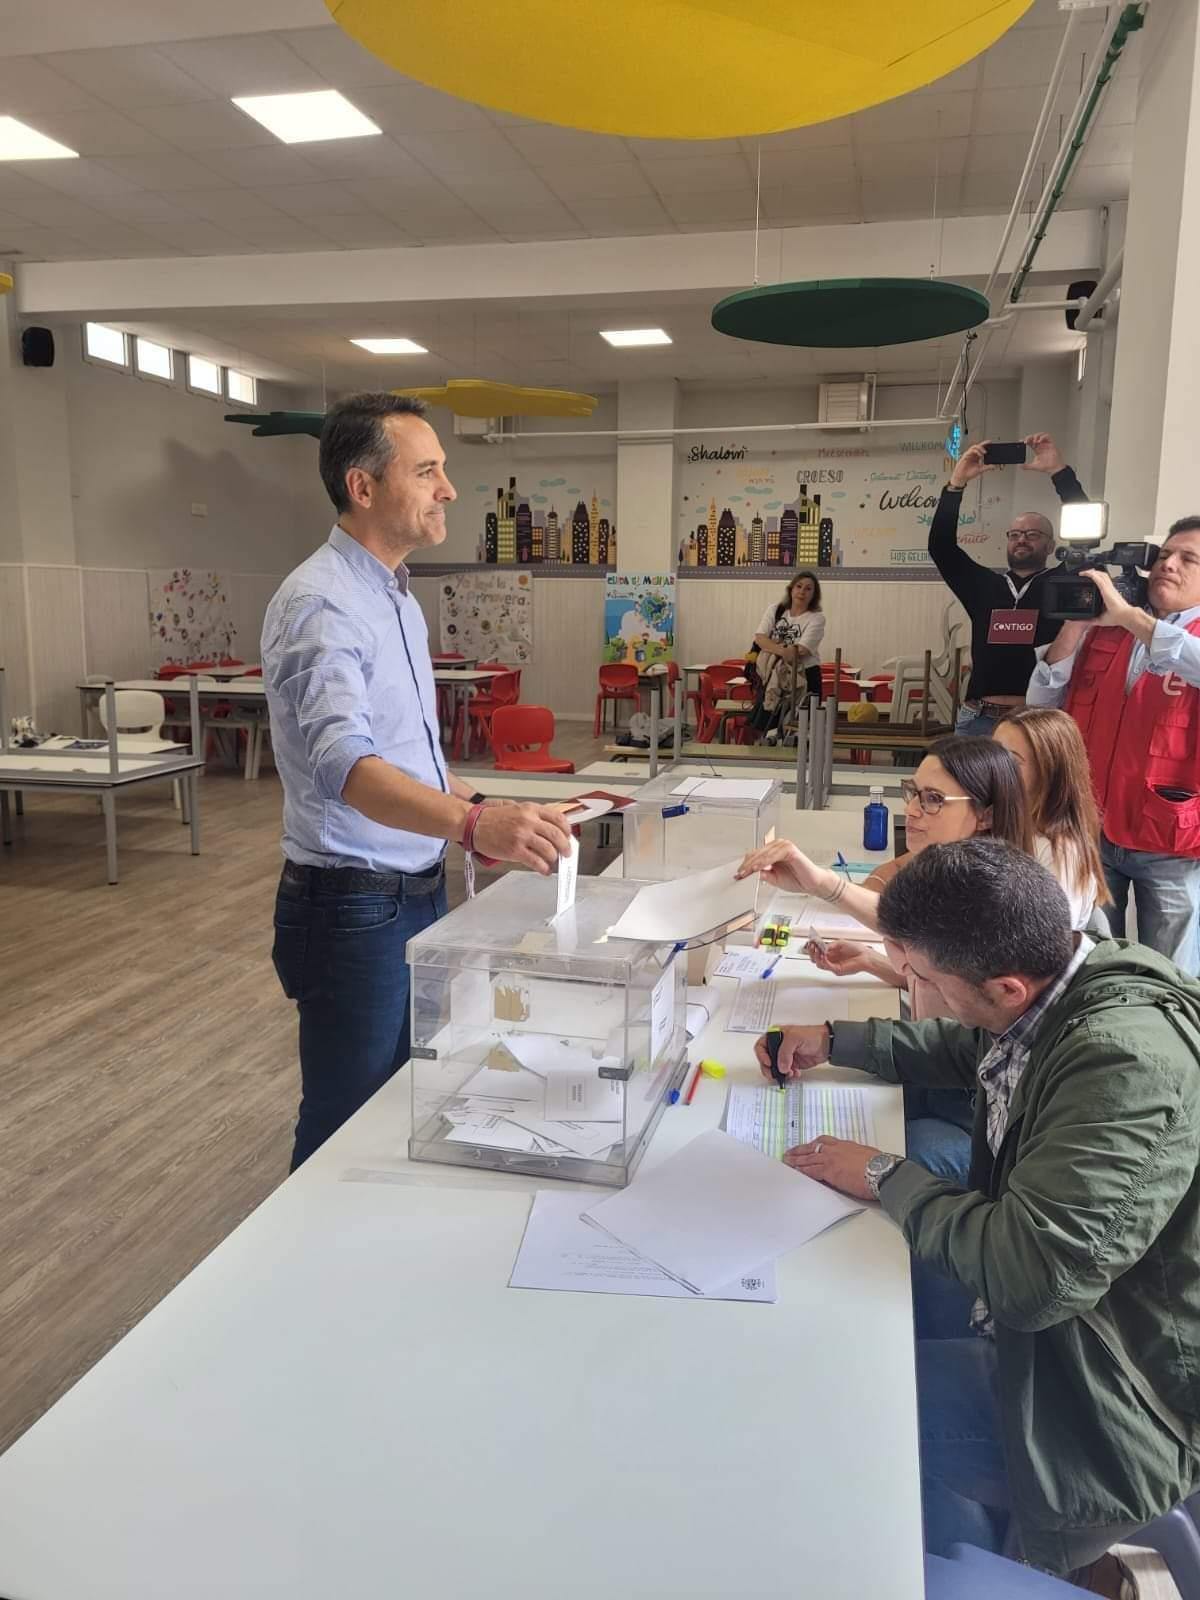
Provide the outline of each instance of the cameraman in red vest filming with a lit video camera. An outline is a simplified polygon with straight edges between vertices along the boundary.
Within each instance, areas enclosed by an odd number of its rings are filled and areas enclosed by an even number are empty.
[[[1096,622],[1064,622],[1038,650],[1030,706],[1066,706],[1088,747],[1101,808],[1112,920],[1125,933],[1133,888],[1138,938],[1197,971],[1200,912],[1200,517],[1181,517],[1150,570],[1142,610],[1106,571]]]

